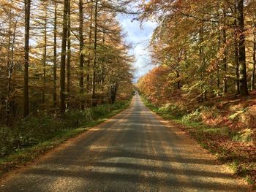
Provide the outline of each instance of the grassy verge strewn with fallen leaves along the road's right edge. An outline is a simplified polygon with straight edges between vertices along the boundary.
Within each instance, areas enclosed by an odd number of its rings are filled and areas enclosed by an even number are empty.
[[[172,112],[171,110],[163,110],[163,107],[154,106],[145,97],[142,97],[143,103],[157,115],[165,120],[175,123],[183,131],[192,136],[201,147],[209,152],[217,155],[219,161],[230,166],[235,174],[243,177],[244,180],[255,185],[255,160],[248,155],[244,155],[237,151],[236,146],[232,146],[234,142],[246,142],[240,140],[240,134],[230,131],[227,127],[208,126],[197,118],[197,112],[192,114],[182,114],[182,112]],[[248,139],[249,141],[249,139]],[[230,143],[230,146],[226,146]]]

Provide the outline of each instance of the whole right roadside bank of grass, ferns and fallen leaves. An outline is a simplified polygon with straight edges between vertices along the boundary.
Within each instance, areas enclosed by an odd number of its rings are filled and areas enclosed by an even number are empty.
[[[153,104],[146,96],[143,96],[143,102],[153,112],[175,123],[202,147],[217,155],[219,161],[228,164],[248,183],[255,184],[255,135],[249,124],[255,125],[256,122],[249,117],[252,115],[250,111],[256,107],[256,94],[252,98],[255,102],[253,106],[247,99],[222,99],[190,106],[192,108],[189,110],[185,110],[182,105]],[[243,110],[239,108],[241,100],[244,100]]]

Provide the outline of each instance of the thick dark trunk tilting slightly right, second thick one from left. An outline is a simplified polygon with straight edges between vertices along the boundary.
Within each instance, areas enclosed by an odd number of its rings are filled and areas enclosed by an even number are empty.
[[[63,13],[63,30],[61,42],[61,80],[60,80],[60,112],[64,114],[65,108],[65,62],[67,54],[67,15],[68,15],[69,0],[64,0],[64,13]]]

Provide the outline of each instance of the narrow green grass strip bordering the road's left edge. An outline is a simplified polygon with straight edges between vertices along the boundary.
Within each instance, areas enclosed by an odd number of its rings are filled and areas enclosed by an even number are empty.
[[[82,125],[79,124],[74,128],[68,127],[56,129],[56,131],[50,133],[48,136],[42,137],[41,135],[40,137],[42,138],[39,139],[37,144],[32,146],[25,145],[23,147],[15,148],[15,150],[13,150],[11,153],[0,158],[0,176],[9,172],[10,170],[17,168],[18,166],[22,166],[29,162],[35,161],[37,158],[39,158],[39,156],[48,152],[48,150],[61,145],[61,143],[71,139],[72,137],[76,137],[79,134],[82,134],[83,132],[89,130],[91,127],[103,123],[105,120],[108,120],[108,118],[126,109],[129,106],[130,101],[131,100],[119,102],[113,107],[99,106],[92,110],[94,112],[93,118],[86,120],[86,122],[83,122]],[[106,108],[108,108],[108,110],[106,110]],[[77,115],[79,115],[79,113],[77,113]],[[67,121],[69,120],[67,119]],[[64,124],[69,125],[69,123],[70,122],[66,122]]]

